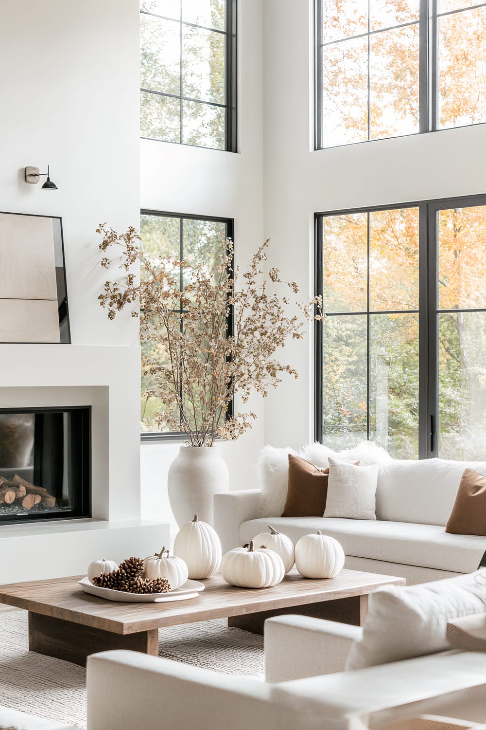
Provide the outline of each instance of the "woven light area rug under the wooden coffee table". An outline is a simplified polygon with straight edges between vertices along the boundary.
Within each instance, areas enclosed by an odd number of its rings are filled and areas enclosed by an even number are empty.
[[[226,619],[159,631],[159,653],[227,675],[264,672],[263,637],[228,629]],[[0,614],[0,704],[86,727],[85,670],[29,652],[27,612]]]

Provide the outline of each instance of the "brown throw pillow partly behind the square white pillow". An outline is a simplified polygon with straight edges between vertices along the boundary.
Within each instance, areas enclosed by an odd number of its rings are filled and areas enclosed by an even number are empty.
[[[322,517],[326,508],[329,467],[289,454],[289,486],[282,517]]]

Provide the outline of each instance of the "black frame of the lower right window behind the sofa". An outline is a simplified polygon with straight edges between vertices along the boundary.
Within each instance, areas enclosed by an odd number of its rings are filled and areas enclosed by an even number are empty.
[[[438,313],[447,312],[486,312],[486,307],[472,309],[439,309],[437,265],[439,247],[437,242],[437,213],[458,207],[486,206],[486,193],[451,198],[437,198],[425,201],[407,201],[406,203],[345,208],[318,212],[314,214],[314,290],[315,296],[323,293],[324,241],[322,220],[332,215],[350,215],[353,213],[397,210],[399,208],[418,208],[419,215],[419,376],[418,376],[418,458],[436,458],[437,442],[436,425],[439,415],[439,378],[438,378]],[[368,271],[369,271],[369,239],[368,239]],[[368,280],[369,288],[369,280]],[[367,312],[353,312],[353,315],[367,314],[367,439],[369,439],[369,307]],[[326,313],[323,308],[323,313]],[[381,313],[381,312],[378,312]],[[387,312],[383,312],[387,313]],[[400,312],[401,313],[401,310]],[[404,313],[406,313],[404,311]],[[330,316],[339,316],[347,312],[332,312]],[[323,323],[315,320],[314,324],[314,435],[315,440],[322,443],[323,433],[323,377],[324,343]]]

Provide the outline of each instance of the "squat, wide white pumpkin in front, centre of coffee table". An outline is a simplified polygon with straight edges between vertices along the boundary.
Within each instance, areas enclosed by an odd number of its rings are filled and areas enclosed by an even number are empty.
[[[235,548],[223,556],[221,573],[230,585],[242,588],[268,588],[283,580],[285,568],[281,556],[267,548]]]

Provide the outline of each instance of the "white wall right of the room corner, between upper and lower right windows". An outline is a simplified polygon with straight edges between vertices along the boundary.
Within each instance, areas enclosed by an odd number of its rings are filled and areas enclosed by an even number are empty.
[[[486,191],[486,125],[312,151],[312,5],[264,0],[264,234],[268,266],[313,294],[313,214]],[[264,442],[313,439],[313,343],[283,350],[299,380],[264,405]]]

